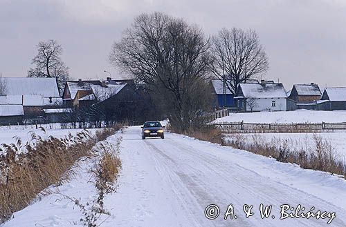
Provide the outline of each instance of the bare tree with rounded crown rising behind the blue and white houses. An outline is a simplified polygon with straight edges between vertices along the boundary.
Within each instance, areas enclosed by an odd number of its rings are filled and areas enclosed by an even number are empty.
[[[268,70],[268,58],[254,30],[226,28],[212,38],[211,70],[235,94],[239,83],[244,83]]]

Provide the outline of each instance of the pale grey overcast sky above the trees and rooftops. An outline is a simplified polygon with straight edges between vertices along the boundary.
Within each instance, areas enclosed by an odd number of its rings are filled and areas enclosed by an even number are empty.
[[[346,1],[343,0],[0,0],[0,72],[26,77],[39,41],[56,39],[71,77],[104,78],[112,43],[142,12],[166,12],[197,23],[206,35],[252,28],[270,69],[266,79],[320,87],[346,86]]]

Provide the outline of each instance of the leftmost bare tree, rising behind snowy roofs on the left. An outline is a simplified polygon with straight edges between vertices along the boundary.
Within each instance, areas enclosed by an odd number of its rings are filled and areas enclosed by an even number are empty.
[[[60,94],[65,82],[69,79],[69,68],[61,59],[62,46],[51,39],[37,45],[37,55],[31,63],[35,68],[28,70],[28,77],[53,77],[57,80]]]

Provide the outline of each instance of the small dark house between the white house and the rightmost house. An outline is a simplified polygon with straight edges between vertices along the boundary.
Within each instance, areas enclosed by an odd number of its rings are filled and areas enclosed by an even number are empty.
[[[316,83],[294,84],[287,97],[287,110],[317,110],[321,92]]]

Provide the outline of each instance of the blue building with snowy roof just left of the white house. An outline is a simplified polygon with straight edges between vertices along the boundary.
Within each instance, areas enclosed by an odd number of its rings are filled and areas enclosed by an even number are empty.
[[[235,95],[230,92],[230,90],[226,87],[226,94],[223,93],[223,81],[219,79],[212,79],[212,95],[213,95],[213,104],[214,108],[222,108],[222,107],[236,107],[235,103]]]

